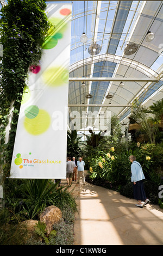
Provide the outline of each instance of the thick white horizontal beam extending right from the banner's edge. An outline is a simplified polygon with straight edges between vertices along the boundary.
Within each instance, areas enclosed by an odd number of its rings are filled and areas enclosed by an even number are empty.
[[[83,81],[83,77],[70,77],[69,82],[74,81]],[[126,82],[158,82],[159,79],[156,77],[150,77],[150,78],[137,78],[137,77],[84,77],[84,81],[126,81]]]

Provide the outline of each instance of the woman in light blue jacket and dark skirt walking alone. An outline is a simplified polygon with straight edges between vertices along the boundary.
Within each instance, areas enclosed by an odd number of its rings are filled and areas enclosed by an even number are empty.
[[[146,197],[146,193],[143,187],[143,179],[145,175],[143,174],[141,164],[136,161],[135,156],[130,156],[131,161],[131,182],[133,182],[133,192],[134,198],[138,200],[139,204],[135,204],[137,207],[143,208],[144,205],[150,203],[149,199]],[[142,201],[145,201],[142,204]]]

